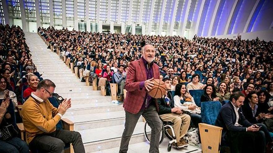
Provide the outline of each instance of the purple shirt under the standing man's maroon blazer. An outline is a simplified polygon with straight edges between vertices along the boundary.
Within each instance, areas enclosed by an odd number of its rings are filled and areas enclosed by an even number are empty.
[[[141,59],[144,62],[147,80],[148,79],[152,79],[154,77],[154,72],[153,72],[153,64],[154,64],[154,62],[151,62],[150,68],[148,68],[148,62],[143,57],[141,57]],[[144,88],[144,84],[145,84],[145,81],[141,81],[139,83],[140,89]],[[147,104],[146,104],[146,100],[147,100]],[[141,106],[141,110],[145,110],[146,108],[148,108],[148,106],[152,103],[152,101],[153,101],[153,97],[149,96],[148,92],[146,92],[143,104]]]

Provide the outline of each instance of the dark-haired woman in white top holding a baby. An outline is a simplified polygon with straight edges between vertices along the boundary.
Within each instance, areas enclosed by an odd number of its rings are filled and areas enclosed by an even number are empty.
[[[202,122],[201,110],[196,106],[194,98],[186,92],[186,85],[178,83],[175,87],[175,96],[173,97],[174,107],[179,107],[183,112],[190,115],[193,126],[198,127],[198,123]]]

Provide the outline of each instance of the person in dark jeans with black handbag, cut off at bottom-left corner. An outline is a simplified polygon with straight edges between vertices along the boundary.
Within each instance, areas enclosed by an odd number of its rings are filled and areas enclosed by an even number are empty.
[[[1,79],[1,86],[4,84],[4,81]],[[20,138],[17,137],[17,132],[15,131],[18,127],[15,124],[15,116],[11,116],[14,114],[13,109],[10,108],[10,100],[8,98],[8,93],[5,93],[4,99],[0,105],[0,130],[7,125],[13,126],[14,128],[9,128],[11,131],[11,138],[7,140],[3,140],[3,135],[0,135],[0,152],[10,153],[10,152],[20,152],[20,153],[29,153],[29,147],[27,143]],[[14,134],[14,135],[13,135]]]

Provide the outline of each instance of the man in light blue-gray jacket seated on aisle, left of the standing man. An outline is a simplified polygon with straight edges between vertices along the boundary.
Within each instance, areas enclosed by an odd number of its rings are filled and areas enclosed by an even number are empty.
[[[114,73],[114,83],[118,83],[118,100],[123,101],[123,89],[125,87],[126,73],[123,72],[124,66],[118,66],[118,72]]]

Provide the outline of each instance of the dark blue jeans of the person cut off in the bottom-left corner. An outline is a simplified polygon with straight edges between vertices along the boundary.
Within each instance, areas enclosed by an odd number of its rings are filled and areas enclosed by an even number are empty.
[[[0,153],[28,153],[28,144],[20,138],[12,138],[8,141],[0,140]]]

